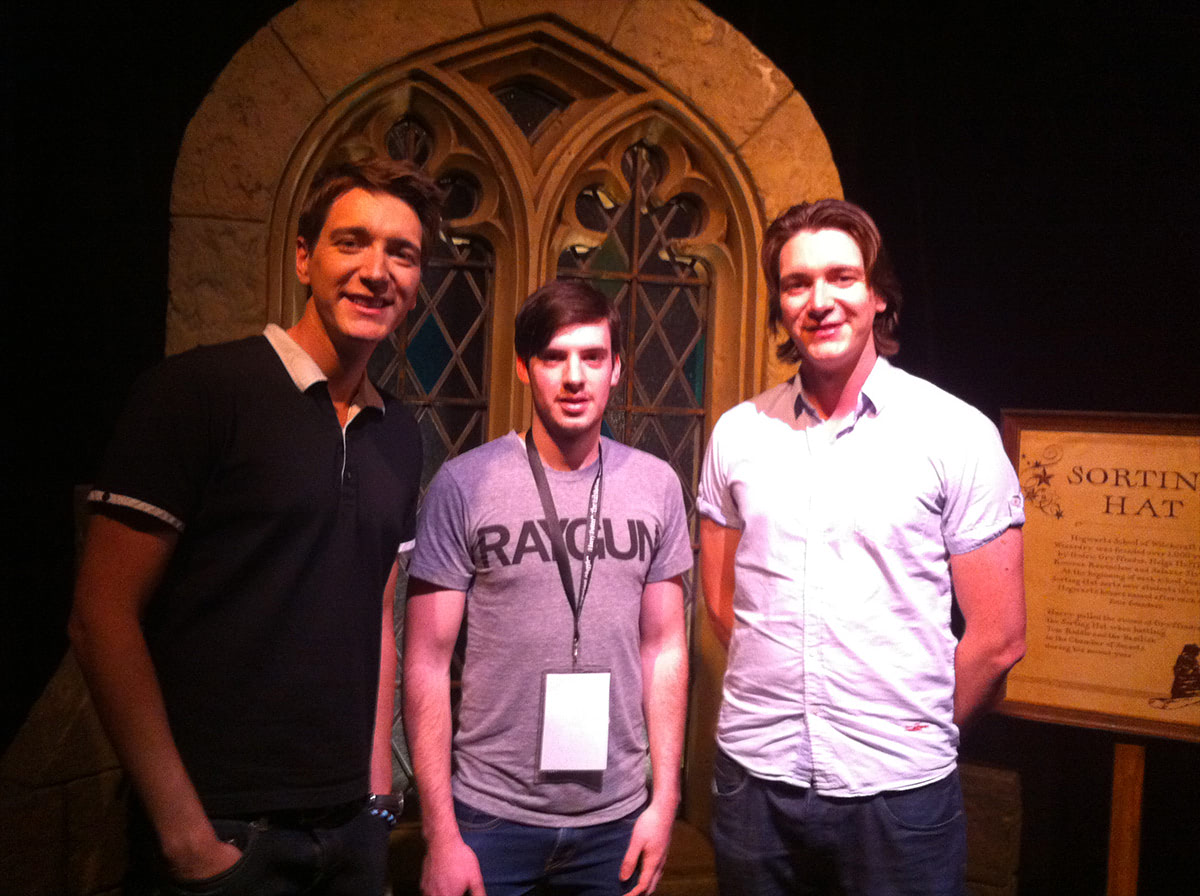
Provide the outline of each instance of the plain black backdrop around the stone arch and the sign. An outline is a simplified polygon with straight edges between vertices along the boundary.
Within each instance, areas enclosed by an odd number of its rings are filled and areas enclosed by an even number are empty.
[[[11,575],[0,748],[65,648],[72,488],[162,355],[168,200],[212,80],[287,4],[0,12]],[[898,362],[1002,408],[1200,411],[1194,2],[713,0],[824,130],[906,291]],[[992,717],[968,758],[1022,776],[1022,894],[1104,889],[1114,736]],[[1142,894],[1190,892],[1200,747],[1148,740]]]

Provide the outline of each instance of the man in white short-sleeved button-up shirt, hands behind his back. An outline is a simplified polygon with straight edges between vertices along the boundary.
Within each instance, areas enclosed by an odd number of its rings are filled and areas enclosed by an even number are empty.
[[[959,728],[1024,654],[1016,477],[990,421],[886,360],[900,293],[881,251],[841,200],[770,225],[770,323],[799,372],[706,453],[725,896],[965,892]]]

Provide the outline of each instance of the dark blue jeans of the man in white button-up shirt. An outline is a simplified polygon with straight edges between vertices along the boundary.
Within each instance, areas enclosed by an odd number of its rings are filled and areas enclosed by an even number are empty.
[[[822,796],[718,752],[713,844],[721,896],[965,896],[959,775],[875,796]]]

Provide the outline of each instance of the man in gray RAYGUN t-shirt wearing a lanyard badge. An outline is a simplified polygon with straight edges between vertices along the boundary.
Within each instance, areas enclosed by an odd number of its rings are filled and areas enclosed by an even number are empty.
[[[600,435],[619,330],[617,309],[581,282],[534,293],[515,333],[529,432],[448,462],[430,486],[404,627],[427,896],[644,894],[661,874],[692,554],[673,470]]]

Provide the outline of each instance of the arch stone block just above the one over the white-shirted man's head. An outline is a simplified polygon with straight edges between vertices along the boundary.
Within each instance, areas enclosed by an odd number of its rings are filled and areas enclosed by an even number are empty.
[[[690,0],[635,0],[612,46],[703,109],[734,145],[792,92],[787,76],[740,31]]]

